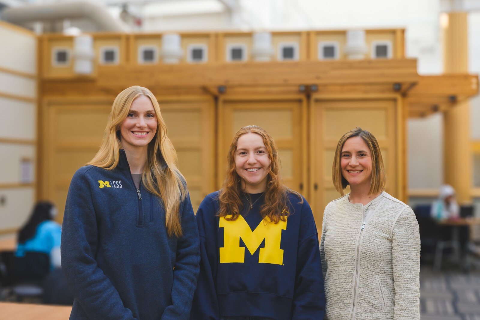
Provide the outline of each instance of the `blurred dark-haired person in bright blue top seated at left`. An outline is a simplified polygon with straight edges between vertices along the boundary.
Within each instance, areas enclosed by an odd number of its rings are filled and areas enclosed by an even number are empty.
[[[61,226],[53,221],[57,208],[49,201],[38,202],[26,224],[20,229],[15,256],[25,252],[43,252],[50,257],[50,269],[60,267]]]

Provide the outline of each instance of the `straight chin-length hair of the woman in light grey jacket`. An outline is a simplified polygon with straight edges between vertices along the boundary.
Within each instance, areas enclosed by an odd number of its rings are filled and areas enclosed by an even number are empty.
[[[336,145],[335,157],[332,166],[332,178],[335,189],[343,196],[343,190],[348,186],[347,179],[345,179],[342,175],[340,161],[342,157],[343,145],[349,138],[352,137],[362,138],[365,144],[367,144],[370,152],[372,153],[372,179],[370,182],[370,190],[368,191],[368,194],[377,194],[384,190],[386,183],[384,160],[382,158],[382,153],[380,152],[380,147],[378,145],[377,139],[375,139],[372,133],[367,130],[362,130],[360,127],[357,127],[345,133]]]

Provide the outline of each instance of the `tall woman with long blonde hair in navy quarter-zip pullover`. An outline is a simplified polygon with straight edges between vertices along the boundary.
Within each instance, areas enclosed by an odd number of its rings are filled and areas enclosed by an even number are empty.
[[[113,102],[100,150],[72,178],[61,238],[70,319],[188,319],[198,230],[155,96]]]

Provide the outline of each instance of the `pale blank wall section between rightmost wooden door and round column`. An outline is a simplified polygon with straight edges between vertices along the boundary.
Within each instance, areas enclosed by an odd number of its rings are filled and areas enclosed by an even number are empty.
[[[427,118],[408,119],[409,189],[436,189],[443,182],[442,121],[441,113]]]

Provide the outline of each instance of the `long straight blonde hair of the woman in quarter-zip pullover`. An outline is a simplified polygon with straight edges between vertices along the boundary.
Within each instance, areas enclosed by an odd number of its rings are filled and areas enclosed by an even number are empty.
[[[182,235],[180,224],[180,201],[185,199],[187,187],[185,178],[177,166],[177,153],[167,137],[167,126],[160,113],[160,106],[150,90],[134,85],[120,92],[113,101],[105,134],[95,157],[87,165],[113,170],[120,159],[120,125],[127,118],[133,100],[144,95],[150,99],[157,120],[156,133],[148,144],[147,161],[142,173],[146,190],[160,197],[165,208],[168,236]]]

